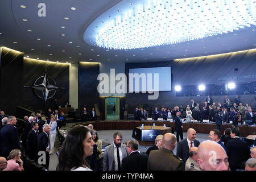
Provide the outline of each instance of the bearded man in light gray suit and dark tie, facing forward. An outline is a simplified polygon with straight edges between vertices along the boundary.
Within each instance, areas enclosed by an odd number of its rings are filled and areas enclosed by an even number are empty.
[[[122,134],[114,133],[114,143],[105,148],[103,159],[103,171],[120,171],[122,159],[127,156],[125,144],[122,144]]]

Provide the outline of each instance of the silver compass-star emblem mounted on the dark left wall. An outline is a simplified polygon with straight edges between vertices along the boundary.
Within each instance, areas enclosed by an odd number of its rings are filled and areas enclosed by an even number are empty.
[[[29,87],[30,86],[24,86],[24,88]],[[65,89],[57,87],[53,78],[47,76],[47,72],[44,74],[44,76],[37,78],[31,88],[34,89],[36,96],[42,98],[44,101],[55,96],[57,89]]]

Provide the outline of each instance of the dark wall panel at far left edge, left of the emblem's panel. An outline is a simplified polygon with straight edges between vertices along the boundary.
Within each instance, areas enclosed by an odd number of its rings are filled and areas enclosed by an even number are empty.
[[[23,53],[2,48],[0,65],[0,109],[7,115],[16,114],[22,103]]]

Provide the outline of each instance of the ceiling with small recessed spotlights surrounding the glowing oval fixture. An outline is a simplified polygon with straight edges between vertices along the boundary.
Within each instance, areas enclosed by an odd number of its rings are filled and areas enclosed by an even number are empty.
[[[38,4],[41,2],[46,4],[46,17],[38,16],[40,9]],[[66,61],[69,63],[77,61],[139,63],[256,48],[256,26],[200,40],[126,51],[113,49],[107,51],[107,49],[86,44],[83,40],[86,27],[97,16],[118,2],[121,1],[1,0],[0,46],[22,51],[25,53],[24,56],[30,56],[32,59],[58,60],[60,63]],[[21,5],[26,8],[20,7]],[[71,7],[76,7],[76,10],[71,10]],[[66,20],[65,17],[69,19]],[[38,38],[40,40],[37,40]]]

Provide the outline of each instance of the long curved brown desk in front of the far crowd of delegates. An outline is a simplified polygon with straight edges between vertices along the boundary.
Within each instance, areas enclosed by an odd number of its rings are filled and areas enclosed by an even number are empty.
[[[142,124],[146,125],[164,125],[168,127],[174,127],[174,122],[150,122],[150,121],[95,121],[95,122],[86,122],[81,125],[89,125],[92,124],[95,130],[133,130],[133,127],[140,126]],[[228,127],[232,128],[233,125],[222,125],[221,133],[224,133],[224,130]],[[197,133],[205,133],[209,134],[210,130],[217,129],[215,123],[183,123],[183,132],[187,132],[189,128],[193,128]],[[250,133],[256,133],[256,126],[239,126],[240,129],[240,137],[247,137]]]

